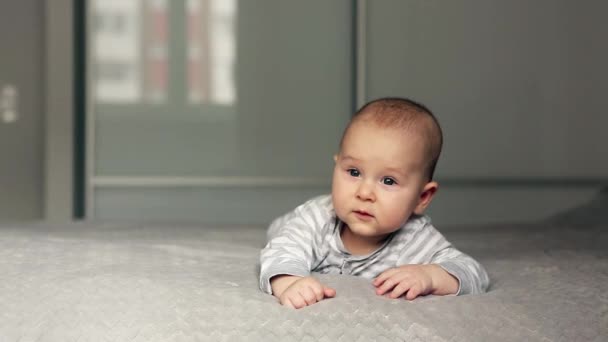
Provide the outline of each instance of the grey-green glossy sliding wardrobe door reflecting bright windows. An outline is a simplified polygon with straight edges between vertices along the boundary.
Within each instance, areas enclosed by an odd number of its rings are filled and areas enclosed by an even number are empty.
[[[262,224],[329,192],[351,7],[90,0],[87,217]]]

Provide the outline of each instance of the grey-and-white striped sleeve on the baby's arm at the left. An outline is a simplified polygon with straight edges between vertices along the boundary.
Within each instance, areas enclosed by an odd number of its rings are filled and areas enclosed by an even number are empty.
[[[327,197],[310,200],[293,212],[275,220],[268,229],[268,243],[260,252],[260,289],[272,294],[270,279],[288,274],[310,275],[314,234],[327,217]]]

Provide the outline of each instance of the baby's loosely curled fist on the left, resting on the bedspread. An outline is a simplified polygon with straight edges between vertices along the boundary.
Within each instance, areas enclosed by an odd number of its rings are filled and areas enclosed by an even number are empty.
[[[300,309],[335,295],[336,290],[321,284],[317,279],[302,277],[291,283],[278,297],[282,305]]]

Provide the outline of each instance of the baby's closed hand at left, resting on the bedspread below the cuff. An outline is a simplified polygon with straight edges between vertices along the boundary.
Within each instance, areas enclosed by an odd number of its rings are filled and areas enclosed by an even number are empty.
[[[278,275],[270,280],[270,284],[272,293],[279,298],[281,304],[294,309],[336,295],[336,290],[321,284],[313,277]]]

